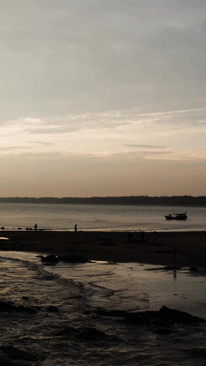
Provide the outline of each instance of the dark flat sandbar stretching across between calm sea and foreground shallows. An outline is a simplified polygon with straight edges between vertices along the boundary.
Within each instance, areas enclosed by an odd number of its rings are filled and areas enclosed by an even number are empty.
[[[3,231],[0,250],[31,251],[55,255],[82,255],[89,260],[139,262],[163,266],[206,268],[206,231],[152,233],[106,231]],[[176,260],[173,248],[177,247]]]

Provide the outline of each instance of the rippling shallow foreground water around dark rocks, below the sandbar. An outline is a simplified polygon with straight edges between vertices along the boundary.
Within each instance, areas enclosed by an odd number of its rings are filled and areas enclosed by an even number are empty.
[[[204,324],[174,325],[165,336],[146,325],[95,313],[166,305],[206,319],[206,277],[198,272],[135,263],[46,266],[36,253],[12,251],[0,252],[0,273],[1,301],[37,309],[36,314],[0,312],[2,365],[205,365]],[[50,305],[59,312],[48,312]],[[106,338],[81,339],[85,328],[100,330]],[[8,345],[33,360],[12,358],[2,349]]]

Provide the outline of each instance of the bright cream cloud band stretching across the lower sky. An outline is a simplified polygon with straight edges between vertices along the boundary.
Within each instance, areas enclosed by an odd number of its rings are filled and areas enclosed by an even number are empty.
[[[47,117],[21,117],[0,126],[12,153],[16,146],[39,152],[99,154],[135,150],[188,150],[205,146],[205,108],[139,113],[139,108]],[[27,142],[26,142],[27,141]],[[124,151],[125,150],[125,151]],[[197,153],[198,152],[198,153]],[[204,150],[205,153],[205,150]],[[16,152],[15,152],[16,154]],[[190,153],[189,153],[190,155]]]

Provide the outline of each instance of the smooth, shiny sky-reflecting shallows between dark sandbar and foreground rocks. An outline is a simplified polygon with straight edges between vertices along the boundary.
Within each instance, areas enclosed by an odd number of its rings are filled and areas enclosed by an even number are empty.
[[[1,257],[37,262],[35,253],[0,252]],[[165,305],[206,319],[205,271],[164,271],[150,264],[94,262],[45,266],[49,273],[84,284],[88,304],[108,310],[159,310]],[[9,271],[9,268],[8,268]]]

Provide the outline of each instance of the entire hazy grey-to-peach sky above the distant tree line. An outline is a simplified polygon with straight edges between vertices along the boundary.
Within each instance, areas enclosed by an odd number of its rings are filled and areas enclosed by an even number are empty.
[[[205,0],[0,0],[0,196],[205,196]]]

